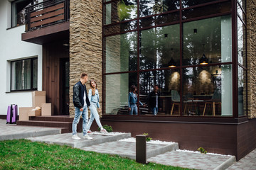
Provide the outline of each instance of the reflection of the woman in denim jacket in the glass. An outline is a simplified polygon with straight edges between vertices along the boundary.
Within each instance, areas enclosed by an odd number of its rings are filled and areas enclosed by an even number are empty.
[[[128,99],[128,106],[129,106],[129,114],[130,115],[137,115],[138,108],[137,108],[137,87],[132,85],[130,92],[129,92],[129,99]],[[139,101],[139,104],[143,106],[142,102]]]

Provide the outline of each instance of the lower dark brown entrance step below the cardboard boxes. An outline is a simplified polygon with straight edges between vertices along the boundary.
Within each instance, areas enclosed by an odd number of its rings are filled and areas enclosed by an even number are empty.
[[[57,122],[57,121],[38,121],[38,120],[18,120],[17,125],[42,126],[61,128],[61,133],[70,132],[72,122]]]

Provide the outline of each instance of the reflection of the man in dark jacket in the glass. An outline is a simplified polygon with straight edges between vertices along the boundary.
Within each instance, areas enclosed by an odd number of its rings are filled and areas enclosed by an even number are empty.
[[[160,102],[160,92],[159,92],[159,86],[154,85],[154,91],[151,91],[149,93],[149,96],[147,98],[147,104],[149,108],[151,109],[152,113],[156,115],[158,111],[161,111],[161,102]]]

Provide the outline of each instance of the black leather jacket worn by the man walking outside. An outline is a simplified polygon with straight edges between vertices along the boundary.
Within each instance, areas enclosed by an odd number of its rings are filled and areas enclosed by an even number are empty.
[[[75,86],[73,86],[73,103],[77,108],[83,108],[84,102],[84,94],[86,95],[86,104],[87,107],[90,106],[90,101],[87,95],[86,86],[82,85],[81,81],[78,81]]]

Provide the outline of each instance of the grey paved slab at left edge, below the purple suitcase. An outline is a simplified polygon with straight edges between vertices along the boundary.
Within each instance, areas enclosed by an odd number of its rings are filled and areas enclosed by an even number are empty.
[[[16,124],[6,124],[6,120],[0,119],[0,141],[19,140],[26,137],[38,137],[44,135],[60,134],[60,128],[46,128],[33,126],[20,126]]]

